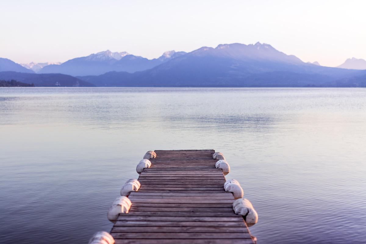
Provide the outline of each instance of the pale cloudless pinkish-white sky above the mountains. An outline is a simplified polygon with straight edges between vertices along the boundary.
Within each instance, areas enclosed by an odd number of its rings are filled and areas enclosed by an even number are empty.
[[[324,66],[366,59],[365,0],[0,2],[0,57],[16,63],[257,41]]]

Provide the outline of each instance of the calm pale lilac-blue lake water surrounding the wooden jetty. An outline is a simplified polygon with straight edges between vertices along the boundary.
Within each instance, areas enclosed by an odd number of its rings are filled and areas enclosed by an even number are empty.
[[[155,149],[223,152],[258,243],[366,241],[366,89],[1,88],[0,242],[109,231]]]

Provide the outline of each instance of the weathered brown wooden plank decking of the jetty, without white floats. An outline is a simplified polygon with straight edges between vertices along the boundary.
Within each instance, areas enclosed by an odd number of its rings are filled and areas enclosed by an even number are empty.
[[[122,243],[253,243],[241,215],[232,209],[214,150],[156,150],[140,174],[141,188],[128,198],[111,230]]]

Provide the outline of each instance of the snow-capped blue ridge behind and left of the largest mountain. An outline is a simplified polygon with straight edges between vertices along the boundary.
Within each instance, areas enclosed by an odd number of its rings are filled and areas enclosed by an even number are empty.
[[[140,56],[130,55],[127,52],[111,52],[110,50],[91,54],[86,57],[78,57],[60,65],[48,65],[38,73],[60,73],[72,76],[101,75],[110,71],[136,72],[148,70],[170,59],[184,55],[185,52],[174,50],[165,52],[157,59],[146,59]]]

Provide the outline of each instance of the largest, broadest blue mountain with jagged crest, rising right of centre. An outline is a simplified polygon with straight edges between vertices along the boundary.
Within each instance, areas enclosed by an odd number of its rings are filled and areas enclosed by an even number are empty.
[[[308,87],[335,86],[337,80],[362,74],[307,64],[269,44],[257,42],[202,47],[134,74],[108,72],[78,78],[96,86]]]

